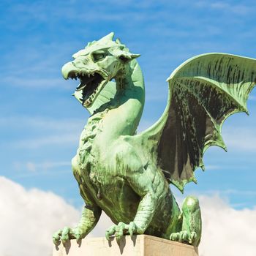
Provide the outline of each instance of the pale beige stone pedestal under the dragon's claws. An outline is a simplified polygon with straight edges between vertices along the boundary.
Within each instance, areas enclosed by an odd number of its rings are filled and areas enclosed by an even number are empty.
[[[71,240],[66,247],[53,247],[53,256],[198,256],[197,248],[154,236],[125,236],[118,245],[115,238]]]

